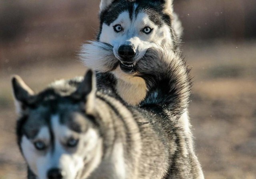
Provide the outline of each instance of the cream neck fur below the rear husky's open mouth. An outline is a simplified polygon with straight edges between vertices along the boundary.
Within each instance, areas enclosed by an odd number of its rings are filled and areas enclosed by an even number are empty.
[[[146,96],[146,83],[140,77],[124,74],[117,68],[114,71],[117,78],[116,91],[124,101],[131,105],[138,105]]]

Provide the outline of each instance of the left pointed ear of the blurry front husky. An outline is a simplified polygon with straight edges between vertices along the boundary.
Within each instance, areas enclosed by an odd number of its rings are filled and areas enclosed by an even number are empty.
[[[27,109],[28,103],[34,97],[34,91],[19,76],[12,77],[12,90],[16,111],[19,115],[22,115]]]

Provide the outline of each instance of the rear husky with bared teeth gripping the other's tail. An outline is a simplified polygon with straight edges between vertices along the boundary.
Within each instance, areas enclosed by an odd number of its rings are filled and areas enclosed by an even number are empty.
[[[84,44],[80,53],[84,65],[98,72],[98,87],[114,84],[114,90],[124,101],[140,105],[148,88],[143,78],[136,76],[136,63],[143,60],[150,48],[180,52],[182,26],[172,3],[101,0],[98,38]],[[187,110],[180,121],[187,135],[192,136]]]

